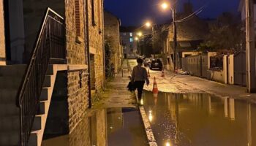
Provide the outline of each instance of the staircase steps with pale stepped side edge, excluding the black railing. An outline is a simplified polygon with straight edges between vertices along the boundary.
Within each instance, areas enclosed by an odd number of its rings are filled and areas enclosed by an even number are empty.
[[[0,66],[0,146],[19,145],[20,115],[15,100],[25,70],[26,65]],[[67,65],[48,66],[29,146],[41,145],[56,74],[61,70],[67,70]]]

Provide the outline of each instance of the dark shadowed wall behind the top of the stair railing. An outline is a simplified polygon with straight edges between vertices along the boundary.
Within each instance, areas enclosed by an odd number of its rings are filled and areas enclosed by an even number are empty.
[[[61,17],[65,16],[64,0],[23,0],[25,61],[29,60],[31,52],[34,50],[34,43],[37,41],[37,34],[48,7],[61,15]]]

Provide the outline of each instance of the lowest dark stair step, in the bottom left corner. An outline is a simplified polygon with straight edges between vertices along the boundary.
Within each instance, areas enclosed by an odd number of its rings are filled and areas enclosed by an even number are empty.
[[[19,143],[19,131],[0,131],[1,146],[17,146]]]

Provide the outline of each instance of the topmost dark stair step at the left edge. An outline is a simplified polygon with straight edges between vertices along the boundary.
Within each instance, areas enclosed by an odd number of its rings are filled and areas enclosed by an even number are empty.
[[[0,66],[0,76],[23,77],[26,71],[25,64]]]

